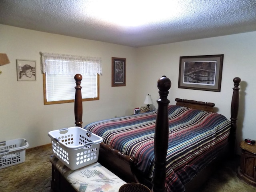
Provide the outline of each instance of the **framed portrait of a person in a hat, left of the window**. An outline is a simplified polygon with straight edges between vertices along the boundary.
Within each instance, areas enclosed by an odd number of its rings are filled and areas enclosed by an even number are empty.
[[[17,59],[17,80],[36,81],[36,61]]]

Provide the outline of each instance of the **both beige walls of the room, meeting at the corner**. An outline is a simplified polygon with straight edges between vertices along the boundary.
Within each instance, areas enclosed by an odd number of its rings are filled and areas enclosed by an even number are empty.
[[[8,54],[10,64],[0,66],[0,141],[26,138],[30,147],[47,144],[50,130],[74,126],[74,104],[44,106],[39,52],[101,57],[100,100],[83,102],[83,122],[124,116],[143,106],[146,94],[154,106],[159,98],[157,80],[166,75],[172,81],[168,96],[214,102],[216,110],[230,118],[233,78],[242,79],[238,141],[256,140],[254,95],[256,92],[256,32],[131,48],[116,44],[36,32],[0,24],[0,53]],[[178,88],[180,56],[224,54],[221,92]],[[111,57],[126,58],[125,87],[111,87]],[[17,82],[16,59],[36,60],[36,82]],[[88,110],[89,109],[89,110]],[[238,150],[239,152],[239,150]]]

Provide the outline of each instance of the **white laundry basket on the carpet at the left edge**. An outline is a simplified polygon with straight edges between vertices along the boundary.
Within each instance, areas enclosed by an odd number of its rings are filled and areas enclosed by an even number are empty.
[[[0,169],[24,162],[27,147],[24,138],[0,142]]]

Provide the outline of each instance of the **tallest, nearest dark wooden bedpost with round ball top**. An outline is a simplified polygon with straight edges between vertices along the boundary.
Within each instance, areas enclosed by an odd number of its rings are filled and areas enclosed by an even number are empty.
[[[166,191],[166,154],[168,148],[168,104],[167,99],[171,81],[166,76],[162,76],[157,82],[160,98],[157,100],[158,112],[156,116],[156,128],[154,136],[155,169],[153,173],[153,192]]]

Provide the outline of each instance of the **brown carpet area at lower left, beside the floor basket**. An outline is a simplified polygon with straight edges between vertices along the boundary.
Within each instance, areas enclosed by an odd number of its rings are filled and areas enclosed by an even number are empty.
[[[0,192],[53,192],[51,145],[26,150],[25,162],[0,169]]]

